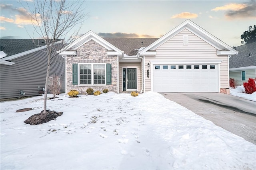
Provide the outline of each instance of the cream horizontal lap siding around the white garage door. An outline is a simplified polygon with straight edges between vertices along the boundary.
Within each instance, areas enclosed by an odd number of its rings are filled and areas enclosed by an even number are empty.
[[[183,35],[188,35],[188,45],[183,45]],[[223,60],[220,64],[220,88],[228,88],[227,56],[218,57],[216,48],[184,29],[156,49],[156,57],[146,57],[145,64],[150,61],[212,61]],[[145,74],[147,70],[145,68]],[[223,74],[223,75],[222,75]],[[151,73],[150,73],[151,76]],[[146,91],[151,90],[150,78],[146,78]]]

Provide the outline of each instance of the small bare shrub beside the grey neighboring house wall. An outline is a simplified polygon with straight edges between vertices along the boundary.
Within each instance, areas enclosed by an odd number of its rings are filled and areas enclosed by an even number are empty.
[[[53,94],[54,98],[56,98],[57,94],[60,94],[60,88],[61,88],[60,77],[57,75],[52,75],[51,77],[49,77],[48,90],[51,94]]]

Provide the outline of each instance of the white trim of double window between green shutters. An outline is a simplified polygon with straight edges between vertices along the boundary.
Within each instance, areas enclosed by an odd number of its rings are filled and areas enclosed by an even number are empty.
[[[92,77],[92,84],[80,84],[80,64],[90,64],[91,65],[91,77]],[[104,64],[105,68],[105,84],[94,84],[94,64]],[[106,86],[107,83],[107,63],[78,63],[78,86]]]

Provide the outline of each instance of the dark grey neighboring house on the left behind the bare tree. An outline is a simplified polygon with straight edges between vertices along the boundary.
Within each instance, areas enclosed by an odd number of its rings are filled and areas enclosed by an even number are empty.
[[[44,93],[47,53],[42,39],[0,39],[0,99],[17,98]],[[56,47],[63,48],[62,41]],[[57,55],[50,68],[50,76],[57,75],[65,92],[65,59]],[[51,80],[51,79],[50,79]],[[49,91],[48,91],[49,92]]]

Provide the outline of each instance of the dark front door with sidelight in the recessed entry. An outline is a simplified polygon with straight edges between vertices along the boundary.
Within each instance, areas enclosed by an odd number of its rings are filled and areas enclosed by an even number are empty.
[[[124,68],[123,69],[123,91],[137,90],[137,69]]]

